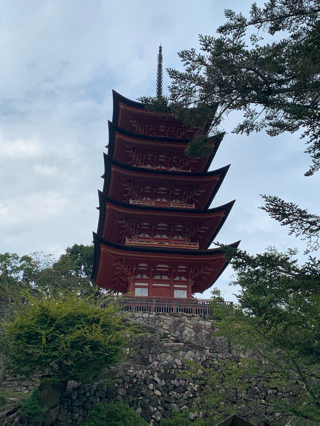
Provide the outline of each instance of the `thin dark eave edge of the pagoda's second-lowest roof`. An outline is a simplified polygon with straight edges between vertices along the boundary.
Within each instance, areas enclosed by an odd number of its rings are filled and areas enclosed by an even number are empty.
[[[162,219],[162,215],[166,214],[166,215],[183,215],[185,217],[193,217],[196,218],[197,216],[206,216],[206,218],[210,218],[210,216],[213,218],[214,215],[216,215],[219,212],[224,212],[224,216],[221,219],[218,227],[214,230],[213,234],[211,235],[211,237],[209,238],[208,243],[205,246],[205,249],[207,249],[210,244],[212,243],[212,241],[216,238],[216,236],[218,235],[220,229],[222,228],[222,226],[224,225],[225,221],[227,220],[227,217],[229,216],[229,213],[235,203],[235,200],[231,201],[230,203],[224,204],[223,206],[219,206],[219,207],[215,207],[213,209],[206,209],[206,210],[199,210],[199,209],[194,209],[194,210],[187,210],[187,209],[179,209],[179,208],[169,208],[169,207],[144,207],[144,206],[139,206],[139,205],[135,205],[135,204],[125,204],[121,201],[115,200],[114,198],[109,197],[108,195],[106,195],[105,193],[98,191],[99,193],[99,222],[98,222],[98,229],[97,229],[97,234],[98,235],[102,235],[103,234],[103,228],[104,228],[104,223],[105,223],[105,217],[106,217],[106,205],[111,204],[115,207],[119,207],[125,211],[131,211],[132,213],[139,215],[139,214],[152,214],[152,213],[157,213],[157,217],[159,217],[159,222]],[[210,232],[210,231],[209,231]]]

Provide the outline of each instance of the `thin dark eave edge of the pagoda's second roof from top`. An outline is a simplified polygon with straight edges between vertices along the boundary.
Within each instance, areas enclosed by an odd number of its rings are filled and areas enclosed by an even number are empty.
[[[124,137],[129,137],[131,139],[136,140],[144,140],[144,141],[150,141],[155,143],[161,143],[161,145],[170,143],[170,144],[185,144],[185,148],[187,148],[188,143],[190,139],[179,139],[179,138],[164,138],[161,136],[147,136],[147,135],[140,135],[138,133],[129,132],[125,129],[122,129],[121,127],[115,125],[113,122],[108,121],[108,128],[109,128],[109,144],[106,146],[108,148],[108,155],[113,158],[114,156],[114,144],[115,144],[115,134],[116,132],[123,135]],[[208,171],[213,158],[215,157],[218,148],[222,142],[223,138],[217,138],[215,136],[212,136],[209,138],[209,140],[214,140],[215,149],[214,152],[207,158],[207,162],[205,164],[205,167],[203,169],[203,172]],[[152,148],[151,148],[152,149]]]

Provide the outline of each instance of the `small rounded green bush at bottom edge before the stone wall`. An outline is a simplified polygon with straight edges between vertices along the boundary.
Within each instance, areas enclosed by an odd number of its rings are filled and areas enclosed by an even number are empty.
[[[96,404],[90,411],[84,426],[147,426],[139,414],[123,402]]]

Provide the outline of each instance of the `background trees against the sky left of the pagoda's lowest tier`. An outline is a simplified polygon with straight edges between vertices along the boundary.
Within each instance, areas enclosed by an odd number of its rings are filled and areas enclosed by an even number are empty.
[[[49,295],[77,289],[92,294],[96,292],[91,281],[92,265],[92,244],[74,244],[57,261],[42,252],[22,257],[16,253],[0,254],[0,306],[6,312],[15,309],[24,292]]]

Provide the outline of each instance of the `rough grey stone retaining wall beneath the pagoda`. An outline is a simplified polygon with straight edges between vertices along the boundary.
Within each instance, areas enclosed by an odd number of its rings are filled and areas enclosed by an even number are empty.
[[[202,415],[195,402],[208,389],[206,369],[213,365],[223,374],[228,363],[241,362],[239,354],[230,353],[224,338],[215,337],[212,322],[199,316],[140,313],[131,315],[130,319],[142,325],[146,332],[138,337],[128,336],[130,345],[125,351],[126,360],[112,368],[113,378],[101,378],[93,385],[69,382],[60,402],[57,425],[81,425],[96,403],[113,400],[133,407],[152,426],[159,426],[161,418],[170,417],[173,411],[188,410],[192,421]],[[193,376],[188,374],[191,367],[196,373]],[[19,389],[22,392],[31,390],[37,380],[20,383]],[[2,389],[13,389],[15,383],[14,378],[6,378]],[[249,378],[246,393],[249,399],[265,402],[274,395],[287,399],[297,397],[291,390],[286,394],[280,394],[275,388],[267,390],[259,378]],[[277,420],[278,413],[267,406],[257,413],[239,395],[228,398],[234,413],[255,426],[271,422],[273,426],[285,425]],[[224,413],[223,406],[217,412]],[[3,424],[1,416],[0,424]],[[287,426],[289,424],[294,423]]]

